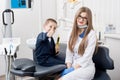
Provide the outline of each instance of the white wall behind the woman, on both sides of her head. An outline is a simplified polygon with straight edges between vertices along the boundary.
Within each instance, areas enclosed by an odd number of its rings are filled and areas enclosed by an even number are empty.
[[[76,5],[74,8],[70,8],[67,4],[63,10],[64,0],[58,0],[57,18],[65,17],[73,21],[74,15],[78,8],[81,6],[87,6],[93,13],[93,26],[98,32],[102,32],[102,38],[104,38],[105,27],[108,24],[113,24],[116,27],[116,33],[120,33],[120,0],[78,0],[82,3]],[[61,3],[61,5],[60,5]],[[70,26],[70,25],[69,25]],[[72,26],[72,25],[71,25]],[[64,26],[68,27],[68,26]]]

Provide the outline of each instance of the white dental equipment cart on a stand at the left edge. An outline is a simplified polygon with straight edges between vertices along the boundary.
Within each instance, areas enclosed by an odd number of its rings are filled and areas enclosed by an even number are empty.
[[[2,44],[0,45],[0,56],[5,57],[5,80],[11,80],[15,76],[10,75],[11,64],[17,57],[17,51],[20,45],[20,38],[3,38]],[[13,79],[12,79],[13,80]]]

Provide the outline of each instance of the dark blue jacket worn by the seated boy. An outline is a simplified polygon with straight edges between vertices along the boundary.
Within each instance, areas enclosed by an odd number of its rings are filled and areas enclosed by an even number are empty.
[[[49,57],[55,56],[55,42],[51,37],[48,40],[47,33],[40,33],[37,37],[36,48],[34,50],[35,62],[39,65],[46,63]]]

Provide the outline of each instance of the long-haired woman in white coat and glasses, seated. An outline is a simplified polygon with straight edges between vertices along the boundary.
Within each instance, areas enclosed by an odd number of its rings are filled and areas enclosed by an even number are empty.
[[[96,46],[96,33],[92,25],[92,13],[82,7],[75,15],[73,29],[69,38],[66,60],[67,69],[58,80],[92,80],[95,66],[92,61]]]

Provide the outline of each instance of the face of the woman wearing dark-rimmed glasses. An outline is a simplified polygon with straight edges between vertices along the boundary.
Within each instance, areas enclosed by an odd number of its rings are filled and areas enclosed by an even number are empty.
[[[83,26],[87,24],[87,13],[82,12],[77,18],[77,25]]]

